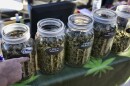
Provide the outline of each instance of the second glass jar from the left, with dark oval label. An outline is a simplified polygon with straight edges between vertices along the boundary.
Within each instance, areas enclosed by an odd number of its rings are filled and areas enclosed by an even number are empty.
[[[55,74],[64,65],[64,24],[59,19],[42,19],[37,24],[37,61],[41,72]]]

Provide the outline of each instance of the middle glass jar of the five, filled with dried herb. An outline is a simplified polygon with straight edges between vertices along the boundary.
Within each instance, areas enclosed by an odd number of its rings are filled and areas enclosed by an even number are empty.
[[[93,19],[82,14],[73,14],[68,18],[66,32],[66,64],[82,67],[88,61],[93,44]]]

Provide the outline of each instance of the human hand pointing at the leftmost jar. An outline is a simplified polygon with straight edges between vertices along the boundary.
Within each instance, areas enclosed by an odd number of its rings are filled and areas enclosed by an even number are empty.
[[[14,58],[0,62],[0,85],[8,86],[22,78],[21,63],[28,61],[28,57]]]

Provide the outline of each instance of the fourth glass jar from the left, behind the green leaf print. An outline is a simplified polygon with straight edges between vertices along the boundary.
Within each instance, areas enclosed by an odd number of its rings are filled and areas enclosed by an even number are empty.
[[[110,9],[101,8],[94,11],[93,18],[94,43],[92,56],[102,58],[111,51],[116,32],[117,14]]]

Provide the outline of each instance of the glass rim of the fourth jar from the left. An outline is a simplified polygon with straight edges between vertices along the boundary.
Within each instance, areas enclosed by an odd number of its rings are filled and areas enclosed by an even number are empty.
[[[94,11],[93,18],[94,21],[99,23],[112,24],[116,23],[117,14],[113,10],[101,8]]]

